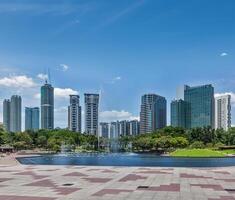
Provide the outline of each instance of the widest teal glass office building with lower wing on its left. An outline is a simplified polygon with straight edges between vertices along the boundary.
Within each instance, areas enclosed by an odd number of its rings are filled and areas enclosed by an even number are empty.
[[[177,98],[184,98],[171,102],[171,125],[187,129],[207,126],[214,128],[214,87],[210,84],[194,87],[184,85],[180,91],[181,95],[177,95]]]

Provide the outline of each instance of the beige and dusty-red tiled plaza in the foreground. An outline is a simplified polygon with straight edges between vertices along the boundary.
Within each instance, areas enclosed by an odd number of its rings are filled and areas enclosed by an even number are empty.
[[[235,167],[0,166],[0,200],[235,200]]]

